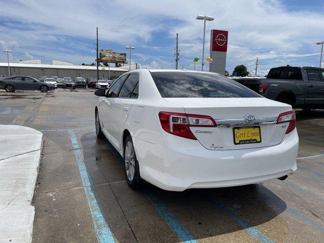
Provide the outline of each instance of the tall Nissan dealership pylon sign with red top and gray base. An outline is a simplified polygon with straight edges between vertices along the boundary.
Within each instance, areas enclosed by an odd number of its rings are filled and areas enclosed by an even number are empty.
[[[210,57],[214,60],[209,65],[210,72],[225,74],[228,31],[213,29],[211,32]]]

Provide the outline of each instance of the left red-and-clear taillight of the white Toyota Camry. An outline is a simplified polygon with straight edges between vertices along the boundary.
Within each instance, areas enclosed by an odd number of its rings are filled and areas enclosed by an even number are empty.
[[[215,120],[208,115],[193,115],[161,111],[158,113],[164,131],[173,135],[197,140],[189,127],[216,127]]]

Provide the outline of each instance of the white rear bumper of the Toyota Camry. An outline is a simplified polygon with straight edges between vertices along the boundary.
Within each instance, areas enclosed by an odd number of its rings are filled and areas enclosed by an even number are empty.
[[[209,150],[198,141],[165,133],[158,144],[133,138],[141,177],[165,190],[228,187],[258,183],[297,169],[295,129],[271,147]]]

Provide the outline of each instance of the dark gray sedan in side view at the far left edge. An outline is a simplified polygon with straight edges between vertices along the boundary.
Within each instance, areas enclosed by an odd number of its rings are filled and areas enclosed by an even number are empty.
[[[30,76],[11,76],[0,79],[0,89],[7,92],[14,92],[15,90],[40,90],[41,92],[48,92],[55,90],[54,85],[37,80]]]

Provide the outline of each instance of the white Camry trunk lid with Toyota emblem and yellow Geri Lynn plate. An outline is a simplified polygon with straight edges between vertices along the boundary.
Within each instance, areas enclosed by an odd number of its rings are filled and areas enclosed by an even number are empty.
[[[290,105],[262,97],[165,98],[165,100],[183,106],[187,114],[208,115],[216,121],[217,127],[190,127],[200,144],[212,150],[257,148],[279,144],[285,136],[289,123],[276,124],[276,119],[280,113],[292,109]]]

